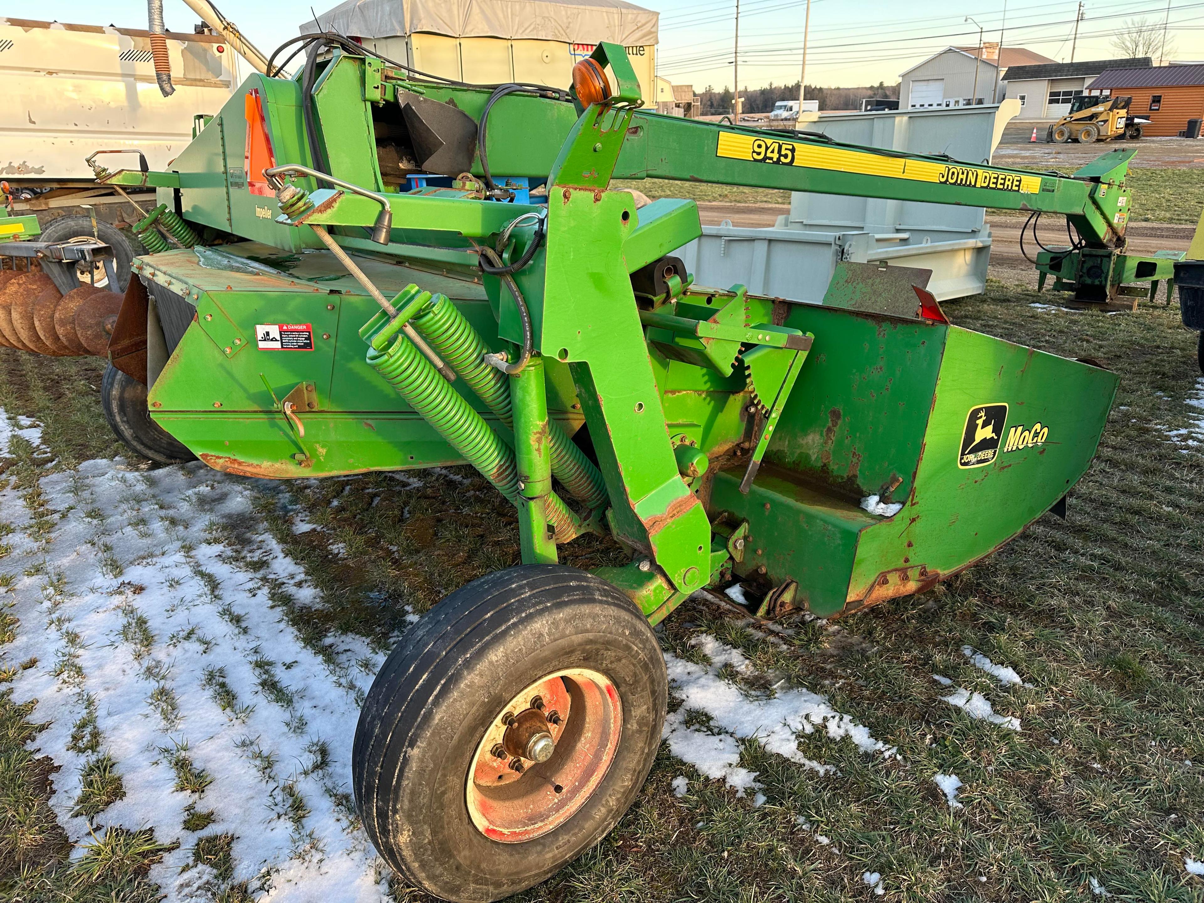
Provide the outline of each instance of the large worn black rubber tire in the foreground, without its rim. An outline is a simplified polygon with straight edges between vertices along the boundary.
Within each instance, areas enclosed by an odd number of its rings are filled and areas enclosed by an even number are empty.
[[[606,777],[547,834],[486,839],[465,801],[477,744],[515,694],[573,667],[606,674],[622,703]],[[409,630],[368,690],[352,751],[368,838],[412,885],[458,903],[539,884],[601,840],[636,798],[661,744],[667,686],[648,620],[606,580],[560,565],[473,580]]]

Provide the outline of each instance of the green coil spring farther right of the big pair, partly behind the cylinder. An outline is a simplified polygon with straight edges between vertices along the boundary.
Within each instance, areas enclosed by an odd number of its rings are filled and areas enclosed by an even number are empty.
[[[435,295],[411,323],[423,334],[435,352],[472,386],[497,418],[513,429],[510,386],[506,374],[482,359],[489,348],[480,334],[447,295]],[[607,503],[606,480],[594,462],[585,456],[555,420],[548,420],[548,447],[551,473],[569,495],[590,508]]]

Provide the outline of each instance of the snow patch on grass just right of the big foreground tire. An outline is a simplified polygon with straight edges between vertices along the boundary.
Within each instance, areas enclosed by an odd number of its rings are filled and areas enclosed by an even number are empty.
[[[756,772],[739,766],[740,740],[756,739],[769,752],[820,774],[832,766],[815,762],[798,751],[798,734],[824,731],[832,739],[848,737],[867,754],[896,755],[893,746],[875,740],[867,727],[843,715],[825,697],[804,687],[779,691],[772,697],[755,697],[719,672],[732,668],[737,674],[751,672],[751,663],[742,653],[712,636],[698,635],[690,645],[703,653],[709,665],[695,665],[665,654],[672,692],[681,706],[665,721],[665,738],[674,756],[697,768],[713,780],[724,779],[744,796],[749,789],[760,790]],[[690,713],[709,716],[709,725],[689,725]]]

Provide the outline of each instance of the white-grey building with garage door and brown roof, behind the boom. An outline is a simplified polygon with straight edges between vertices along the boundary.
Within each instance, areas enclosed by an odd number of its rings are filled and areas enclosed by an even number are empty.
[[[1004,69],[1054,61],[1023,47],[1004,47],[1002,55]],[[978,47],[948,47],[928,57],[899,76],[899,108],[998,104],[1004,96],[999,57],[998,43],[984,45],[981,55]]]

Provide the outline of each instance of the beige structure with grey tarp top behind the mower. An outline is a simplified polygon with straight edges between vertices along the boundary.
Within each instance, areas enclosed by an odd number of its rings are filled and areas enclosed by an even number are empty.
[[[639,90],[655,93],[659,13],[625,0],[347,0],[302,34],[354,37],[399,63],[479,84],[568,88],[600,41],[622,45]]]

